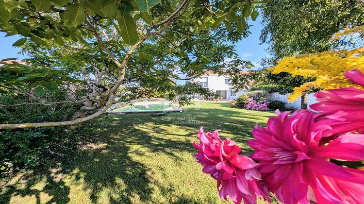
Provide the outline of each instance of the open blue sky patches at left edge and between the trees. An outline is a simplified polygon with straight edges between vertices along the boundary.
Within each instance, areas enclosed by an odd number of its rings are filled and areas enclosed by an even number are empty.
[[[243,40],[234,44],[236,46],[236,53],[238,53],[238,55],[245,60],[253,62],[253,64],[256,66],[254,69],[260,67],[257,62],[267,54],[265,49],[268,47],[268,45],[260,45],[259,41],[259,36],[262,30],[261,20],[262,18],[260,16],[258,16],[256,21],[250,20],[249,24],[252,26],[249,30],[251,34],[247,38],[244,38]],[[24,55],[18,54],[20,51],[19,48],[12,47],[12,44],[19,39],[18,36],[4,36],[5,33],[0,33],[0,60],[10,57],[17,57],[19,60],[27,58]]]

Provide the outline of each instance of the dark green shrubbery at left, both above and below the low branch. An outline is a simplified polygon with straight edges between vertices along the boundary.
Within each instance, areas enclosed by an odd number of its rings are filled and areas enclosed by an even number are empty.
[[[67,95],[65,89],[60,87],[58,90],[46,93],[43,97],[47,101],[66,101],[85,95],[82,88],[76,90],[74,94],[74,96]],[[18,104],[29,102],[29,98],[9,91],[0,94],[0,102],[1,104]],[[80,104],[77,103],[1,106],[0,123],[69,119],[79,106]],[[77,138],[75,134],[77,133],[65,127],[1,131],[0,177],[6,177],[17,170],[40,167],[52,163],[54,159],[59,159],[65,151],[72,150],[71,145]]]

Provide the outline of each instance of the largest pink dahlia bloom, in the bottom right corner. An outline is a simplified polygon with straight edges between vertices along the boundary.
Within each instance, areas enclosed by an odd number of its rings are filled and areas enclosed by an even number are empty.
[[[315,122],[317,114],[299,110],[278,112],[267,127],[255,127],[248,144],[259,161],[268,190],[286,204],[364,203],[364,171],[338,166],[331,159],[364,159],[364,135],[342,135],[319,145],[330,121]],[[329,124],[329,125],[327,125]]]

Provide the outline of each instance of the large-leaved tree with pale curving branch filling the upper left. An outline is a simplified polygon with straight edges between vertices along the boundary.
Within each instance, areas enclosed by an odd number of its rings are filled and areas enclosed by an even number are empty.
[[[29,96],[32,100],[27,105],[80,104],[73,117],[64,121],[0,124],[0,129],[80,123],[105,113],[117,97],[131,100],[164,92],[203,92],[196,84],[176,85],[177,72],[185,79],[208,69],[239,77],[237,69],[252,65],[238,58],[234,46],[225,42],[248,35],[247,20],[257,18],[262,3],[0,0],[0,31],[6,36],[21,35],[13,46],[21,46],[31,56],[28,65],[3,63],[1,92]],[[80,88],[87,94],[51,102],[44,97],[65,87],[68,93]]]

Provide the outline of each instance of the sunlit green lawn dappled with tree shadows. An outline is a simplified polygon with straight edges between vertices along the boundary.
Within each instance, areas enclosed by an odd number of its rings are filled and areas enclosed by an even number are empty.
[[[200,126],[219,129],[244,154],[255,123],[271,112],[234,109],[229,103],[198,102],[183,113],[112,115],[71,151],[66,161],[42,172],[19,173],[1,184],[0,203],[223,203],[216,182],[191,154]]]

